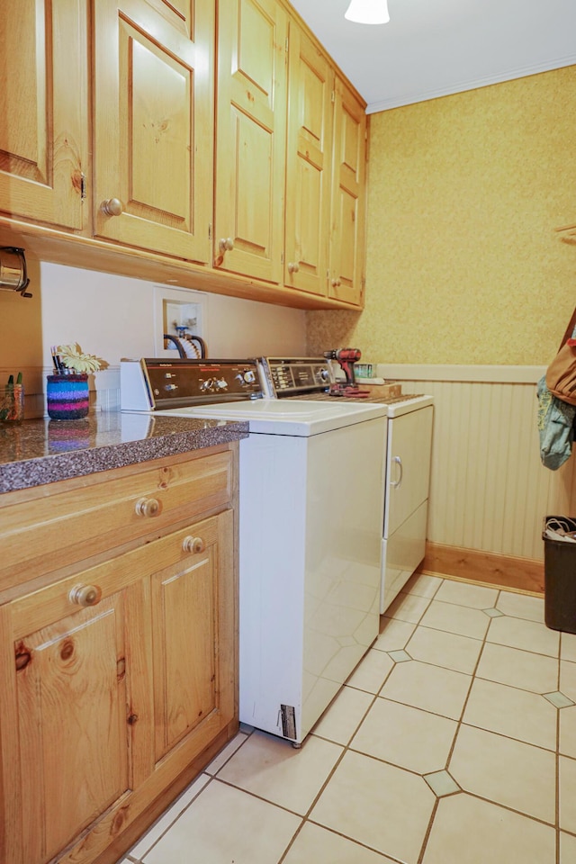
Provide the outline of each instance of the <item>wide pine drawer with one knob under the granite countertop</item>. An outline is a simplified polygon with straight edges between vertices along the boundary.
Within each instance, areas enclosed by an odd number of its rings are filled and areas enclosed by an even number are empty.
[[[91,477],[93,481],[94,475]],[[103,472],[97,482],[0,496],[0,591],[227,503],[229,451]]]

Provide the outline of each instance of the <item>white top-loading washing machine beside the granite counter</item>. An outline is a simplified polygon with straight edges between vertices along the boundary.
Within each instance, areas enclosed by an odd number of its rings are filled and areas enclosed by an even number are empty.
[[[239,716],[299,745],[378,635],[386,405],[266,399],[252,361],[145,359],[121,364],[121,409],[248,421]]]

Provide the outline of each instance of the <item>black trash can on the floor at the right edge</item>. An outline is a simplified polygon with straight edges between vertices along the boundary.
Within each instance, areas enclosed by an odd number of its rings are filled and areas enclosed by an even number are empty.
[[[544,532],[544,612],[552,630],[576,633],[576,543],[555,539],[554,533],[575,533],[576,518],[547,516]],[[558,535],[560,537],[560,535]]]

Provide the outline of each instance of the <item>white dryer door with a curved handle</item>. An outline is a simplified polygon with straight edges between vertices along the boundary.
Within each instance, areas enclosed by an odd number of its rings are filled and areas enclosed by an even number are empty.
[[[385,537],[428,499],[433,411],[429,405],[388,423]]]

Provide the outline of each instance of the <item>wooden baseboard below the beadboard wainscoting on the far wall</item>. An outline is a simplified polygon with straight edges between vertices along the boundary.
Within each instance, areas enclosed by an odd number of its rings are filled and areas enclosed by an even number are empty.
[[[424,561],[418,572],[497,585],[528,594],[544,594],[544,562],[533,558],[515,558],[427,542]]]

